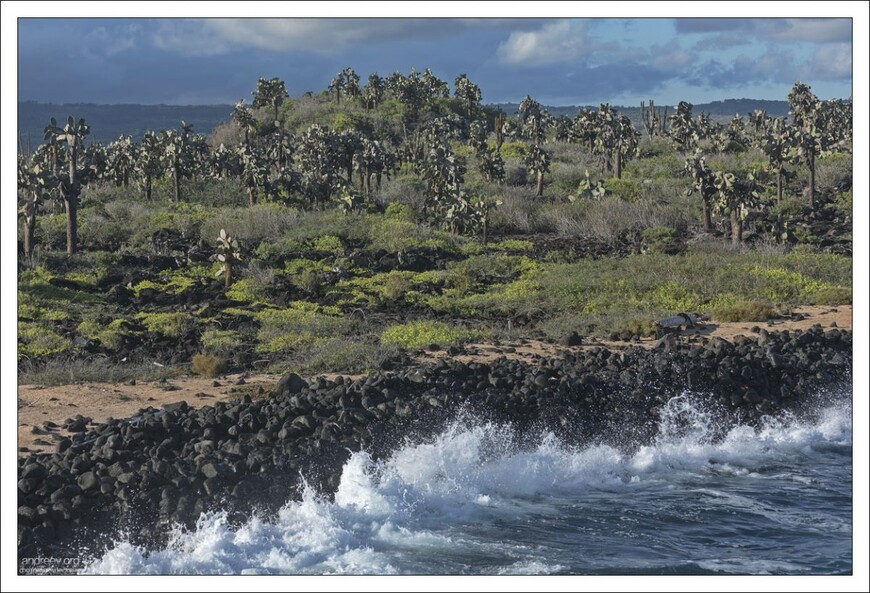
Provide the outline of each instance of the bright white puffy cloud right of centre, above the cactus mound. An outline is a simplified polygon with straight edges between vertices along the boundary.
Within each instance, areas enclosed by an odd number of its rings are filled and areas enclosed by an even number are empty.
[[[601,49],[616,50],[617,47],[594,41],[583,24],[562,20],[535,31],[513,31],[507,41],[499,45],[497,55],[505,64],[540,66],[576,62]]]

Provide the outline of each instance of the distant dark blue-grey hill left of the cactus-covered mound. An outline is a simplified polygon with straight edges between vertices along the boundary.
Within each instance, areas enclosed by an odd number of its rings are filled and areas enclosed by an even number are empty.
[[[192,124],[194,132],[208,135],[230,119],[232,111],[232,105],[54,105],[24,101],[18,103],[18,134],[24,139],[29,136],[31,145],[40,144],[52,117],[60,124],[72,115],[85,118],[91,126],[88,140],[93,142],[111,142],[124,134],[138,141],[148,131],[178,128],[182,120]]]

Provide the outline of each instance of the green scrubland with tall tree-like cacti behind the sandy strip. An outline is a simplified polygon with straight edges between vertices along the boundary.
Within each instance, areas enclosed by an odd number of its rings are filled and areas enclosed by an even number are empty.
[[[365,372],[851,303],[845,102],[796,86],[799,117],[743,127],[681,104],[642,134],[606,105],[508,116],[467,78],[351,73],[293,99],[264,80],[211,138],[51,123],[19,160],[21,380]]]

